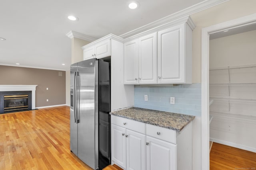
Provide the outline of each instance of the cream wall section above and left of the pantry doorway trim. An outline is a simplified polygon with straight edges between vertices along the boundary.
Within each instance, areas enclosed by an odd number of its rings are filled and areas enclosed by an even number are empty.
[[[256,0],[230,0],[191,15],[196,24],[193,31],[193,83],[201,82],[202,28],[254,14],[256,12],[255,6]]]

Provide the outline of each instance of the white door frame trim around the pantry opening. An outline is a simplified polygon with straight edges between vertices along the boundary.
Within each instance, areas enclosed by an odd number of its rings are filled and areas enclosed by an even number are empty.
[[[226,21],[202,29],[202,170],[210,168],[209,152],[209,35],[256,23],[256,14]]]

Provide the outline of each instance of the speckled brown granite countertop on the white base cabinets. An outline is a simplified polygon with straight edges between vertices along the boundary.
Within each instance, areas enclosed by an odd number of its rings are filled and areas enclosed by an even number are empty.
[[[180,132],[195,116],[131,107],[110,112],[111,115],[148,123]]]

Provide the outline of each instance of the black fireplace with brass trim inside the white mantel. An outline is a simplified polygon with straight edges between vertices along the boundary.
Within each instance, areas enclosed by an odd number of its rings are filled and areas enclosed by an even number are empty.
[[[0,113],[32,109],[31,91],[0,92]]]

